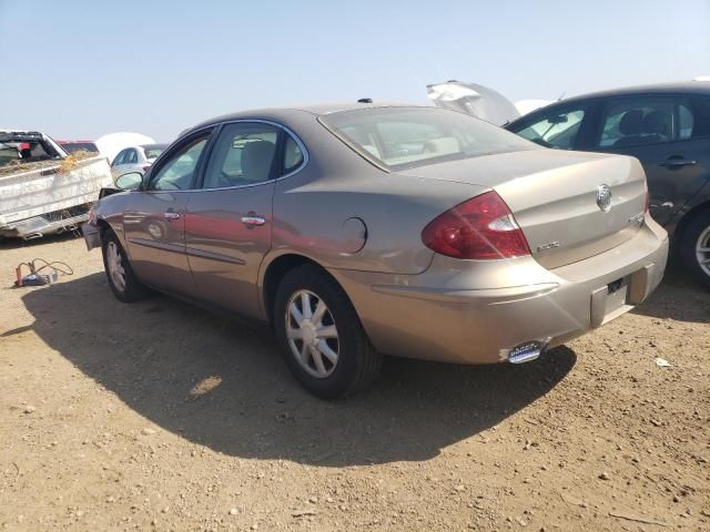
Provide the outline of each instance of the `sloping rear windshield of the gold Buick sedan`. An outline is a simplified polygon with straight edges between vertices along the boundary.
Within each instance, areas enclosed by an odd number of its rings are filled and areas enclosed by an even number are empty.
[[[371,108],[327,114],[321,121],[393,171],[538,147],[481,120],[437,108]]]

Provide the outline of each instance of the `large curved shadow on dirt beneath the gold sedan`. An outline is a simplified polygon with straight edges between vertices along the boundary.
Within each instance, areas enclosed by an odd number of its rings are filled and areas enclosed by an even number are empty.
[[[545,396],[576,362],[566,347],[521,366],[389,359],[368,390],[323,401],[291,377],[267,331],[160,295],[121,304],[103,274],[22,300],[50,348],[138,413],[242,458],[324,467],[428,459]]]

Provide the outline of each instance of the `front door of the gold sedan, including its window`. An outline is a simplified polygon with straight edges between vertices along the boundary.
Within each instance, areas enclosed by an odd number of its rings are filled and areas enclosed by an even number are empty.
[[[142,190],[132,193],[123,228],[131,266],[146,284],[180,294],[192,290],[184,214],[210,134],[202,131],[173,146],[146,174]]]

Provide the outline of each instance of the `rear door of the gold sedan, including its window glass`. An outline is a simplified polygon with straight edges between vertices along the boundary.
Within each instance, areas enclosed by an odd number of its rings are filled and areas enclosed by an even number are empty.
[[[286,165],[284,150],[291,153]],[[293,156],[294,150],[301,158]],[[272,243],[274,182],[302,162],[298,143],[277,124],[223,125],[202,188],[189,194],[185,212],[185,250],[196,297],[261,316],[256,280]]]

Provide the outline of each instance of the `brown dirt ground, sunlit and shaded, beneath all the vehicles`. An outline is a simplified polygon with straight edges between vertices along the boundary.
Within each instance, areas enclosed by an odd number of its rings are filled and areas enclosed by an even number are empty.
[[[11,288],[34,257],[75,273]],[[710,530],[710,294],[678,268],[535,362],[390,359],[335,402],[260,329],[119,303],[81,239],[1,243],[0,275],[0,530]]]

